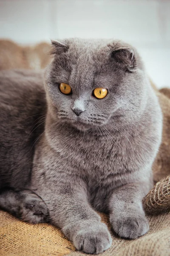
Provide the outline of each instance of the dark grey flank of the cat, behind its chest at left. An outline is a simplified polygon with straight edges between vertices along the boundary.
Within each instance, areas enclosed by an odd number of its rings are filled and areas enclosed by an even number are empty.
[[[27,70],[0,71],[1,189],[6,186],[14,189],[28,186],[34,140],[43,129],[36,124],[42,120],[45,112],[42,73]]]

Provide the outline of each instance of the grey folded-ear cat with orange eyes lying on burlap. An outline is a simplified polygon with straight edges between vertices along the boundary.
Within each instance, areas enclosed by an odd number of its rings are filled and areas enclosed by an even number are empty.
[[[141,58],[122,41],[52,41],[41,73],[0,72],[0,206],[60,227],[78,250],[144,235],[142,198],[161,142],[162,116]],[[97,89],[98,88],[98,89]]]

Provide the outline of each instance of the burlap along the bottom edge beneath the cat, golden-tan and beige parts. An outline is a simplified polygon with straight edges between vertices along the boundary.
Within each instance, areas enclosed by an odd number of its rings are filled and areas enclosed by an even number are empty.
[[[112,234],[111,248],[102,255],[110,256],[170,256],[170,212],[148,216],[149,232],[136,240],[115,236],[108,217],[101,215]],[[32,225],[0,211],[0,255],[2,256],[81,256],[61,231],[49,224]]]

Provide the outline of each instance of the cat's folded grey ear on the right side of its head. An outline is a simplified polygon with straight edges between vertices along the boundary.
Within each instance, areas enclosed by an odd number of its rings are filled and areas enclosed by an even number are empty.
[[[111,58],[113,58],[120,66],[124,67],[128,71],[135,71],[136,58],[132,49],[127,47],[115,49],[111,53]]]

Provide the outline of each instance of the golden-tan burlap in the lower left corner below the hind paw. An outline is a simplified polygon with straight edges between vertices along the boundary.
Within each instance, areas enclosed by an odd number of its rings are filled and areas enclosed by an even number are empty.
[[[0,255],[62,256],[74,250],[63,233],[49,224],[28,224],[0,211]]]

